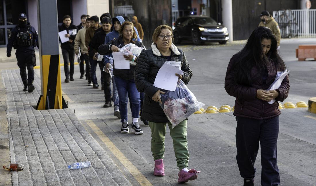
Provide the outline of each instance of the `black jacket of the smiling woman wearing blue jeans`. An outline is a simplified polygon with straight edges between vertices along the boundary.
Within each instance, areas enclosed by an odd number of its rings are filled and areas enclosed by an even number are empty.
[[[137,47],[143,47],[144,45],[142,42],[135,42],[134,43]],[[111,47],[111,45],[115,45],[118,48],[122,48],[125,46],[123,40],[122,40],[122,36],[120,36],[119,38],[115,38],[112,39],[110,42],[101,45],[98,48],[98,52],[101,55],[107,55],[112,53],[112,51],[109,49]],[[138,59],[137,59],[138,61]],[[134,79],[134,70],[135,70],[135,66],[130,65],[130,69],[115,69],[115,61],[113,61],[113,75],[114,76],[120,76],[123,79],[126,80],[130,80],[130,79]]]

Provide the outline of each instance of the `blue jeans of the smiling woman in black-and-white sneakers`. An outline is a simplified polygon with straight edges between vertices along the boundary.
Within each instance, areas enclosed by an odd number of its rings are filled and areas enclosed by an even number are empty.
[[[127,121],[127,103],[128,103],[128,93],[131,95],[132,102],[132,117],[139,117],[140,110],[140,94],[136,89],[134,79],[125,80],[120,76],[115,76],[114,78],[116,88],[119,93],[119,112],[121,114],[121,122]]]

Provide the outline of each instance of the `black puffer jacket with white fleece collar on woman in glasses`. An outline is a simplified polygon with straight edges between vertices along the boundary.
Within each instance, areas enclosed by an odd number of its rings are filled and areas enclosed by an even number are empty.
[[[159,103],[151,99],[159,90],[154,86],[154,82],[160,67],[167,61],[167,58],[160,54],[155,44],[152,44],[151,47],[139,55],[135,69],[136,88],[139,92],[145,93],[142,118],[156,123],[169,122]],[[192,70],[185,54],[173,44],[170,49],[172,50],[171,61],[181,61],[181,70],[184,70],[182,81],[187,84],[191,79]]]

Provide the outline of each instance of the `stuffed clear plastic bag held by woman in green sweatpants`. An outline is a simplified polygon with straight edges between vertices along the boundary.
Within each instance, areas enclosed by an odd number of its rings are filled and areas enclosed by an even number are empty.
[[[178,79],[175,91],[162,91],[165,92],[165,94],[160,94],[162,104],[159,103],[159,105],[170,123],[172,123],[172,128],[204,106],[203,103],[197,101],[194,94],[180,79]]]

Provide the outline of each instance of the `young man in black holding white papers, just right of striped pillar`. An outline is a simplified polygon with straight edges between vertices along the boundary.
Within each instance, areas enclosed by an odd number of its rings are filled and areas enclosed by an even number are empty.
[[[78,28],[76,25],[73,25],[71,23],[71,17],[69,15],[65,15],[63,18],[63,24],[59,26],[58,32],[60,31],[67,31],[67,34],[65,34],[65,37],[69,37],[68,42],[61,43],[61,51],[64,58],[64,71],[65,71],[65,82],[68,83],[70,81],[74,81],[74,68],[75,68],[75,38],[78,32]],[[60,40],[60,38],[59,38]],[[68,67],[68,63],[70,63],[70,69]]]

